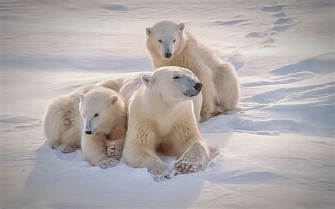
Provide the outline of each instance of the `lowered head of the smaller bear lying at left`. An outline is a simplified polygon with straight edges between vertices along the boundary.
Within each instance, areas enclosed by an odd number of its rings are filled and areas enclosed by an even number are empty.
[[[109,91],[112,90],[98,88],[80,95],[79,111],[86,135],[103,132],[105,126],[110,126],[113,118],[111,113],[117,112],[120,101],[117,95]]]

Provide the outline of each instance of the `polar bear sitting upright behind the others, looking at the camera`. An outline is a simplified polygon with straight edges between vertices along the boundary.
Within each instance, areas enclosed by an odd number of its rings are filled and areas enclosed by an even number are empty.
[[[237,107],[240,87],[232,64],[184,30],[184,23],[162,21],[146,28],[146,46],[153,66],[189,68],[204,83],[202,121]]]

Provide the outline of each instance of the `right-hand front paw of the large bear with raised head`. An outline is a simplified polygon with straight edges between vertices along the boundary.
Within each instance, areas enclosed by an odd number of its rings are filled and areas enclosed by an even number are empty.
[[[202,165],[199,160],[196,159],[197,157],[192,156],[181,158],[176,162],[175,169],[177,169],[177,171],[181,174],[198,172],[204,168],[204,165]]]

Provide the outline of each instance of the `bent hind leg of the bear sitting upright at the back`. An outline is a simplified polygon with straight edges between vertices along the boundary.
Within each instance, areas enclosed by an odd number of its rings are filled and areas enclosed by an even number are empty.
[[[214,71],[214,83],[218,92],[216,114],[233,110],[240,102],[240,86],[235,68],[230,63],[223,63]]]

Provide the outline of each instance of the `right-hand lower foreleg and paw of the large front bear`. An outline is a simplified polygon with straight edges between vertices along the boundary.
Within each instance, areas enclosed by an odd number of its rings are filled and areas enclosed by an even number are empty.
[[[182,156],[175,163],[175,169],[182,174],[188,174],[205,169],[210,160],[210,153],[203,140],[194,141],[182,153]]]

